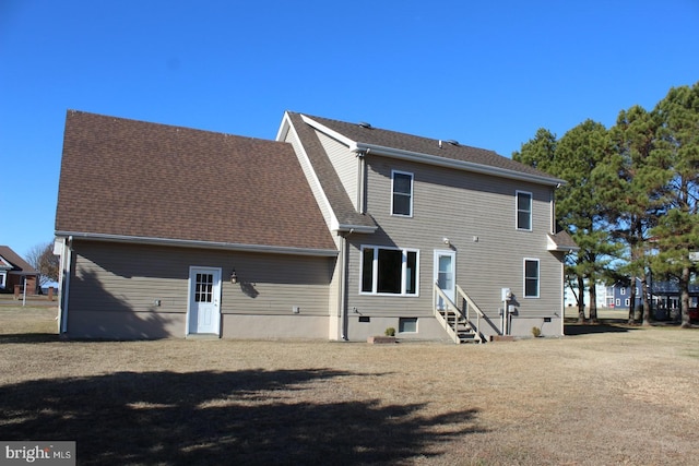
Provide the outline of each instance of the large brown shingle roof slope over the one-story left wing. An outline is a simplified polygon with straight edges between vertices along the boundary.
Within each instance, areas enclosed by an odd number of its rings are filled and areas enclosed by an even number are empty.
[[[74,110],[56,230],[336,251],[291,144]]]

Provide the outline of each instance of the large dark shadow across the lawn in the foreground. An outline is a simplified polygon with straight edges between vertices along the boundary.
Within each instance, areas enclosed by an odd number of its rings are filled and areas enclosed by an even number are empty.
[[[482,432],[476,409],[428,417],[420,404],[296,402],[335,370],[118,372],[0,387],[0,439],[75,440],[78,463],[371,464]],[[376,383],[376,380],[368,382]],[[330,384],[325,386],[324,384]],[[327,393],[327,392],[325,392]],[[327,396],[327,395],[324,395]]]

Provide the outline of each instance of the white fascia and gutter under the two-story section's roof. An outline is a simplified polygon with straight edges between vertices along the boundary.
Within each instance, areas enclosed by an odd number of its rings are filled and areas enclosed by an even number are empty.
[[[455,168],[459,170],[472,171],[483,175],[491,175],[495,177],[509,178],[519,181],[530,181],[540,184],[558,187],[565,184],[566,181],[553,177],[540,177],[536,175],[521,174],[507,168],[489,167],[487,165],[474,164],[472,162],[454,160],[453,158],[438,157],[436,155],[422,154],[418,152],[403,151],[393,147],[386,147],[375,144],[366,144],[355,142],[351,144],[355,152],[368,152],[369,154],[382,155],[384,157],[399,158],[408,162],[417,162],[420,164],[429,164],[438,167]]]

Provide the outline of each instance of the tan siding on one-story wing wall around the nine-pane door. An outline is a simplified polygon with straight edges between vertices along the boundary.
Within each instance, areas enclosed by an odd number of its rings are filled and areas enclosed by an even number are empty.
[[[223,314],[292,315],[298,307],[303,315],[329,315],[334,258],[92,241],[74,241],[73,250],[69,319],[105,312],[183,316],[190,266],[221,268]],[[173,336],[183,336],[183,326]]]

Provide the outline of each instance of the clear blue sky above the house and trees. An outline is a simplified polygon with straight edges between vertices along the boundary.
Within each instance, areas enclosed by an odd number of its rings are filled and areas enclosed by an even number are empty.
[[[52,240],[68,109],[265,139],[293,110],[509,157],[699,81],[698,24],[698,0],[0,0],[0,244]]]

